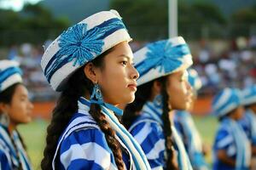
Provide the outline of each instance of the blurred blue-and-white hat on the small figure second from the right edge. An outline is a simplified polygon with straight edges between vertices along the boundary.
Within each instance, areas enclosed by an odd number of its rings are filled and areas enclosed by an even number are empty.
[[[241,105],[241,91],[237,88],[224,88],[212,100],[212,114],[222,117]]]

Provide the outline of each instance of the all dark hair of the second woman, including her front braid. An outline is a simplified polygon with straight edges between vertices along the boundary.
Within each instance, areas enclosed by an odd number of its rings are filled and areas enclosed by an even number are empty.
[[[175,156],[172,144],[172,128],[171,121],[169,118],[169,107],[168,101],[169,96],[166,92],[166,77],[160,77],[151,82],[147,82],[137,88],[137,92],[135,94],[135,100],[133,103],[127,105],[125,107],[124,115],[122,117],[122,121],[125,127],[128,129],[131,127],[132,122],[134,122],[139,116],[139,112],[142,111],[143,105],[150,99],[152,94],[152,87],[154,81],[161,83],[161,92],[162,95],[162,103],[163,103],[163,114],[162,120],[164,122],[163,131],[166,138],[166,152],[167,152],[167,161],[166,161],[166,169],[178,169],[177,163],[175,163]]]

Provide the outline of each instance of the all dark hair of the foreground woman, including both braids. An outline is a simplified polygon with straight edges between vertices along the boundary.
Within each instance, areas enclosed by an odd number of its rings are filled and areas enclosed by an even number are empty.
[[[93,65],[103,70],[104,56],[110,53],[111,50],[112,49],[109,49],[96,57],[96,59],[93,59]],[[44,158],[41,161],[42,170],[52,169],[51,164],[55,155],[58,139],[67,127],[73,114],[78,111],[77,101],[79,97],[84,96],[85,94],[91,94],[92,89],[93,83],[84,75],[84,66],[79,68],[71,77],[69,77],[67,86],[62,91],[61,96],[57,101],[49,127],[47,127]],[[91,104],[89,113],[102,129],[102,132],[105,133],[108,146],[113,152],[114,161],[117,167],[119,169],[124,169],[119,141],[114,138],[115,132],[106,121],[106,117],[102,114],[100,105]]]

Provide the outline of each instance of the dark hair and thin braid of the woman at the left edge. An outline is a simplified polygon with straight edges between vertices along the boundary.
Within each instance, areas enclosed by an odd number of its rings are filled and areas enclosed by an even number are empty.
[[[13,96],[15,94],[15,90],[19,85],[23,85],[23,84],[20,83],[20,82],[17,82],[15,84],[11,85],[9,88],[6,88],[5,90],[3,90],[3,92],[0,93],[0,103],[11,105]],[[17,134],[19,136],[22,147],[24,148],[24,150],[26,150],[26,144],[24,143],[23,139],[21,138],[18,129],[15,129],[15,131],[17,132]],[[9,131],[8,131],[8,133],[9,133],[9,137],[11,139],[11,142],[15,147],[16,154],[19,157],[18,149],[17,149],[15,141],[12,137],[12,134]],[[19,157],[19,167],[18,167],[18,169],[22,169],[21,162],[20,162],[20,157]]]

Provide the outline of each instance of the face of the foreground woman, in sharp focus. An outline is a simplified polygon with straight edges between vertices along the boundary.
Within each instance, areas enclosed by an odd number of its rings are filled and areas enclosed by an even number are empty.
[[[139,75],[132,64],[133,54],[128,42],[120,42],[105,56],[104,67],[96,76],[105,102],[119,105],[135,99]]]

